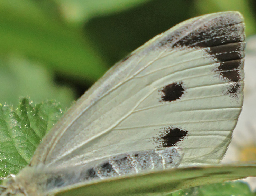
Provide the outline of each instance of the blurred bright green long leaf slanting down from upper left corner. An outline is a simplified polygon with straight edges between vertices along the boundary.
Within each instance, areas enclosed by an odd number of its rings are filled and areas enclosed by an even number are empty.
[[[51,18],[32,0],[0,1],[0,53],[38,59],[76,80],[95,81],[106,71],[81,30]]]

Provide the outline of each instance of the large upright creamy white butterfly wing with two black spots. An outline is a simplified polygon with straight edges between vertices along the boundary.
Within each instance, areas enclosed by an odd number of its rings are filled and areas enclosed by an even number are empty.
[[[85,92],[30,165],[82,165],[167,147],[173,138],[161,143],[166,127],[186,133],[175,136],[184,149],[181,165],[217,163],[243,102],[244,39],[238,12],[196,17],[156,36]]]

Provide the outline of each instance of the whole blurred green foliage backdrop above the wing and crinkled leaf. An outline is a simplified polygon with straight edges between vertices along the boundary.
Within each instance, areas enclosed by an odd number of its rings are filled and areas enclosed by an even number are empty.
[[[256,33],[254,0],[0,0],[0,103],[69,107],[115,62],[175,24],[240,11]]]

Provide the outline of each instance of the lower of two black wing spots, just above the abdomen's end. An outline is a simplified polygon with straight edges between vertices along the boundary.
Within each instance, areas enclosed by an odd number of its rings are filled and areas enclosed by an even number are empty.
[[[176,146],[179,141],[184,140],[188,135],[188,131],[182,130],[174,126],[167,126],[161,128],[158,137],[154,137],[153,140],[158,147],[171,147]]]

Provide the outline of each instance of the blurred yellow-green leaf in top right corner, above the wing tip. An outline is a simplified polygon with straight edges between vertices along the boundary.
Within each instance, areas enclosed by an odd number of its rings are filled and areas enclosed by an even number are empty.
[[[255,14],[248,0],[195,0],[199,14],[207,14],[220,11],[239,11],[245,18],[246,35],[256,32]]]

